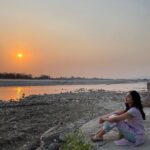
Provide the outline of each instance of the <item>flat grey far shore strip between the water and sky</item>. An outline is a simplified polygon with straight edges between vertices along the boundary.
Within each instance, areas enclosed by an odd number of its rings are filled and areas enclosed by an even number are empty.
[[[148,82],[148,79],[64,79],[64,80],[33,80],[33,79],[0,79],[0,87],[6,86],[52,86],[52,85],[88,85],[88,84],[121,84]]]

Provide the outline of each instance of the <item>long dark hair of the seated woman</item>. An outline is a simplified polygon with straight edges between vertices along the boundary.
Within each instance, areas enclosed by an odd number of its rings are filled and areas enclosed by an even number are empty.
[[[139,111],[142,114],[143,120],[145,120],[146,117],[145,117],[145,113],[143,111],[143,105],[141,103],[140,94],[137,91],[129,91],[129,93],[130,93],[130,95],[132,97],[132,100],[133,100],[132,107],[136,107],[137,109],[139,109]],[[125,105],[126,105],[125,112],[127,112],[130,109],[130,107],[129,107],[129,105],[127,103]]]

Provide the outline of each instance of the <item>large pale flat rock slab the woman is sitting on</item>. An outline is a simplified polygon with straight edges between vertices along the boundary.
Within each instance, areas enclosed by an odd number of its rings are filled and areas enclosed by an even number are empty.
[[[85,139],[90,142],[93,145],[93,149],[94,150],[126,150],[127,148],[129,150],[132,149],[138,149],[138,150],[149,150],[150,149],[150,108],[145,108],[144,110],[146,112],[146,118],[147,120],[145,121],[145,143],[144,145],[138,146],[138,147],[133,147],[133,146],[117,146],[114,144],[114,140],[119,138],[119,133],[117,131],[117,129],[113,129],[112,131],[108,132],[105,136],[104,136],[104,142],[96,142],[93,143],[90,140],[90,134],[91,133],[95,133],[96,131],[98,131],[99,126],[99,117],[95,118],[91,121],[89,121],[88,123],[84,124],[81,127],[81,130],[83,132],[83,134],[85,135]]]

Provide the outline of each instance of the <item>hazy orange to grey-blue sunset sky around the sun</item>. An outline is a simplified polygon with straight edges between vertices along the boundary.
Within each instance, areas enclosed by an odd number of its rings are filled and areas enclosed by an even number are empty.
[[[0,72],[150,77],[150,0],[1,0]]]

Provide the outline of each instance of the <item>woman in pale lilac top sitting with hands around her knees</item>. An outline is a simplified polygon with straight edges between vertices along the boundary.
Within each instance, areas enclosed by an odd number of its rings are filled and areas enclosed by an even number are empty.
[[[145,113],[137,91],[127,93],[125,106],[125,110],[116,111],[100,118],[99,123],[103,126],[96,134],[91,135],[93,142],[103,140],[105,133],[117,127],[123,138],[115,141],[116,145],[129,145],[130,143],[137,146],[144,143],[143,120],[145,120]]]

